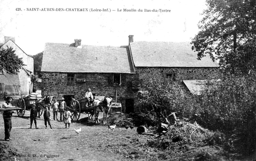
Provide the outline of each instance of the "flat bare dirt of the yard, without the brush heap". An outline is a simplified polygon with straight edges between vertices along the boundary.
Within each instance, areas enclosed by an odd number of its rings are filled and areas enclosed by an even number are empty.
[[[32,129],[29,121],[30,111],[26,111],[24,117],[20,118],[17,113],[12,117],[11,141],[4,141],[4,120],[0,116],[0,142],[7,143],[9,147],[17,150],[14,160],[88,160],[88,161],[115,161],[129,160],[122,153],[110,153],[111,143],[127,142],[132,136],[136,137],[136,129],[121,130],[116,128],[114,131],[108,126],[93,125],[87,126],[81,123],[71,123],[70,128],[66,129],[63,122],[51,121],[52,129],[45,129],[44,120],[37,119],[37,127],[33,124]],[[51,116],[52,117],[52,116]],[[58,113],[58,117],[60,115]],[[81,114],[81,118],[86,117]],[[77,135],[74,128],[82,128],[82,132]],[[121,137],[120,137],[120,134]],[[119,135],[117,137],[117,135]],[[126,137],[129,135],[129,137]],[[123,137],[122,137],[123,136]],[[15,158],[16,157],[16,158]]]

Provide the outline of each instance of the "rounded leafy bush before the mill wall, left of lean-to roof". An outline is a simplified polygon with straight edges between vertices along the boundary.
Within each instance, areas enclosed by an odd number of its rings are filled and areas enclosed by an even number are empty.
[[[187,93],[179,82],[164,77],[160,71],[151,71],[143,77],[141,84],[138,91],[140,103],[154,113],[158,121],[172,112],[187,114],[187,109],[182,106]]]

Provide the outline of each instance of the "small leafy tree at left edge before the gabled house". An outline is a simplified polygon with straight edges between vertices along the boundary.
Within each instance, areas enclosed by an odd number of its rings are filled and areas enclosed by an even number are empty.
[[[24,65],[22,58],[15,54],[12,47],[7,46],[7,48],[0,49],[0,75],[4,75],[4,73],[17,74],[21,66]]]

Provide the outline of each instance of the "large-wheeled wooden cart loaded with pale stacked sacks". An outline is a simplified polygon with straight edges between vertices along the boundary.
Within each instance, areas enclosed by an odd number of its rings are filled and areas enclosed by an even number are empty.
[[[19,117],[24,116],[25,110],[32,109],[33,104],[36,105],[38,114],[39,116],[41,116],[43,113],[43,109],[45,108],[45,103],[44,101],[41,101],[41,100],[42,98],[31,99],[30,96],[20,98],[17,103],[17,106],[21,108],[20,110],[17,110],[18,116]]]

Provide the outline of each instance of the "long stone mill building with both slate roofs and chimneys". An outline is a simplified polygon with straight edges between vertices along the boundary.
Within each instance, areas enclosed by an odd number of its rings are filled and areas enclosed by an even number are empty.
[[[81,41],[45,44],[42,95],[79,99],[91,88],[93,95],[112,97],[122,103],[124,112],[132,112],[140,78],[151,70],[191,82],[217,77],[219,69],[210,57],[197,60],[189,42],[134,41],[133,35],[128,45],[117,47]]]

